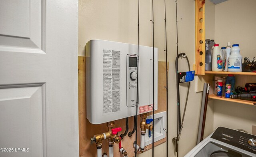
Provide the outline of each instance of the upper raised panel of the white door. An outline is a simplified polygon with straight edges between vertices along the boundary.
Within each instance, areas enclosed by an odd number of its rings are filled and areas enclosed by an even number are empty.
[[[44,53],[45,13],[45,0],[10,0],[1,5],[0,52]]]

